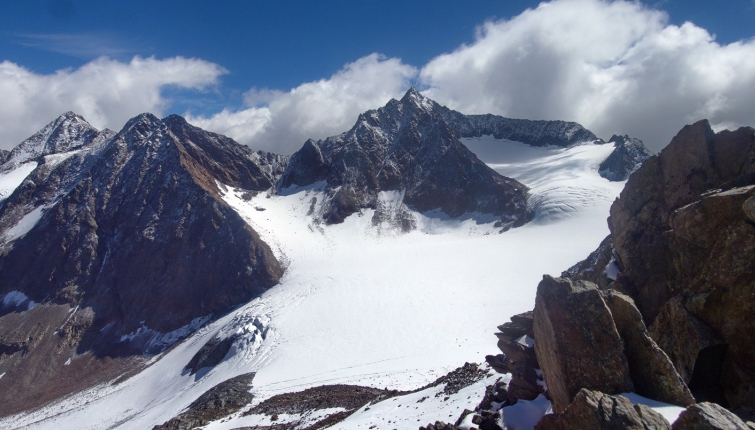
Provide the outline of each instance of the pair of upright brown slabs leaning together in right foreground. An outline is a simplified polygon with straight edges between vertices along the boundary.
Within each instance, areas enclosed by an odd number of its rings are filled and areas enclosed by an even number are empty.
[[[556,412],[582,388],[634,391],[683,406],[695,401],[626,295],[545,276],[538,285],[534,329],[535,351]]]

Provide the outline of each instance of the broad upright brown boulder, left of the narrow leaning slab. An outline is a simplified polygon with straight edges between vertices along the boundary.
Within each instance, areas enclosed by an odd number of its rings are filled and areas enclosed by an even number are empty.
[[[534,330],[554,411],[564,411],[582,388],[634,391],[624,344],[595,284],[544,276],[537,287]]]

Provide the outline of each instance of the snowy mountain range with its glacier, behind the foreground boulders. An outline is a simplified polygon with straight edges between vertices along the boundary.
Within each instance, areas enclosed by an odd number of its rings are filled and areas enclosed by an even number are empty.
[[[614,150],[413,89],[290,158],[177,116],[115,134],[64,114],[0,164],[0,426],[149,428],[251,372],[252,402],[206,428],[273,425],[244,414],[333,384],[422,388],[339,428],[456,416],[495,377],[433,381],[606,236]],[[353,412],[334,405],[277,423]]]

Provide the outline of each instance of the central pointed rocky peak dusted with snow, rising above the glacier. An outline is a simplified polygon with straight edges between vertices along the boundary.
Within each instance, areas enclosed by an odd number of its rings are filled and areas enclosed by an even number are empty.
[[[528,222],[527,187],[481,162],[441,111],[411,89],[401,101],[360,115],[350,131],[307,141],[291,156],[279,186],[327,183],[329,200],[320,216],[331,224],[375,208],[381,191],[401,192],[401,203],[420,212],[495,214],[504,228]]]

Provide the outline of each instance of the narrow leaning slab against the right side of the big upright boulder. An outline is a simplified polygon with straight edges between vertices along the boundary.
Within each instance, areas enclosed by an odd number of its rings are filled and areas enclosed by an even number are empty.
[[[669,357],[650,337],[634,301],[609,290],[606,303],[613,315],[637,394],[674,405],[695,403],[692,393]]]

